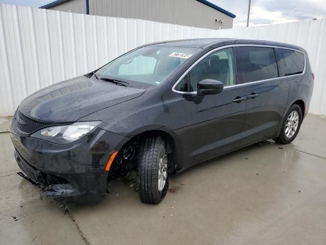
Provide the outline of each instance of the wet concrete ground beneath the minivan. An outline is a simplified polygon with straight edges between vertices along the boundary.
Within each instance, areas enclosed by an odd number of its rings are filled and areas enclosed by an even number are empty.
[[[326,118],[293,143],[262,142],[170,178],[159,205],[121,181],[99,204],[39,200],[0,133],[0,244],[326,244]]]

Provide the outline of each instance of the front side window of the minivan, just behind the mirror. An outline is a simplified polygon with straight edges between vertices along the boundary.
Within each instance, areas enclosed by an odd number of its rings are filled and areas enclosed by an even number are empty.
[[[224,86],[236,84],[233,49],[225,48],[216,51],[201,60],[189,72],[191,92],[197,91],[197,85],[204,79],[218,80]]]

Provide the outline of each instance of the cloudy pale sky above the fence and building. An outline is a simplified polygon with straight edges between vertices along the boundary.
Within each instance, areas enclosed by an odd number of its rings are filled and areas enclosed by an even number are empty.
[[[0,3],[40,7],[53,1],[0,0]],[[236,15],[233,27],[246,26],[248,0],[209,1]],[[326,0],[252,0],[251,2],[250,26],[326,18]]]

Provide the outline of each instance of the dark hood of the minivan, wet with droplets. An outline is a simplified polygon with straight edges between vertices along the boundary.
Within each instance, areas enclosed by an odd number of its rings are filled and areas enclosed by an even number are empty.
[[[39,121],[73,122],[95,111],[132,100],[144,92],[144,89],[80,76],[31,94],[21,102],[19,110]]]

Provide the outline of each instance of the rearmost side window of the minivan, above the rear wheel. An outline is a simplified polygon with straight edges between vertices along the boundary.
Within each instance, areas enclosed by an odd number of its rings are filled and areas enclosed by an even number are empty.
[[[301,74],[305,67],[303,53],[284,48],[275,48],[277,61],[279,63],[280,77]]]

